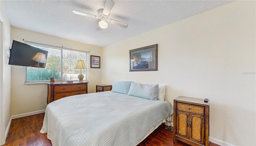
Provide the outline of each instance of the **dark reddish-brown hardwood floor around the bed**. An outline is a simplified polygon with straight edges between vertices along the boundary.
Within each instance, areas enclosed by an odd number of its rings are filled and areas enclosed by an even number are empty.
[[[52,146],[47,134],[40,133],[43,125],[44,113],[13,119],[3,146]],[[173,143],[173,132],[160,125],[146,138],[146,146],[188,146],[178,141]],[[137,146],[144,146],[141,142]],[[211,143],[210,146],[218,146]]]

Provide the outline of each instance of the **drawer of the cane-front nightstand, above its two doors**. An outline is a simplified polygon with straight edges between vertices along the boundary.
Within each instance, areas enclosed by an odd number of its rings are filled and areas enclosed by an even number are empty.
[[[204,115],[203,106],[195,106],[191,104],[184,104],[184,103],[177,102],[177,110],[183,110],[186,112],[192,112],[192,113]]]

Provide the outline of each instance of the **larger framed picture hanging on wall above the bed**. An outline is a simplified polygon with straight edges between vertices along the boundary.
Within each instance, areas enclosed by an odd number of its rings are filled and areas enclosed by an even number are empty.
[[[129,50],[130,72],[157,71],[158,44]]]

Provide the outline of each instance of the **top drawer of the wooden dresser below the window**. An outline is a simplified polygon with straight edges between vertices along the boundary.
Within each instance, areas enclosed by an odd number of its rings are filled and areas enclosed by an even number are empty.
[[[86,84],[54,86],[54,93],[86,90]]]

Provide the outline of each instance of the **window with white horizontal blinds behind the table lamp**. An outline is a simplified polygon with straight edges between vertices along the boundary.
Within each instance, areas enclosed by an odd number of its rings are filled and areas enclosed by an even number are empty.
[[[25,67],[25,83],[50,82],[52,77],[55,81],[78,80],[80,69],[74,68],[77,60],[84,60],[86,69],[82,69],[82,74],[84,80],[88,80],[88,52],[32,42],[27,44],[48,51],[48,56],[45,68]]]

